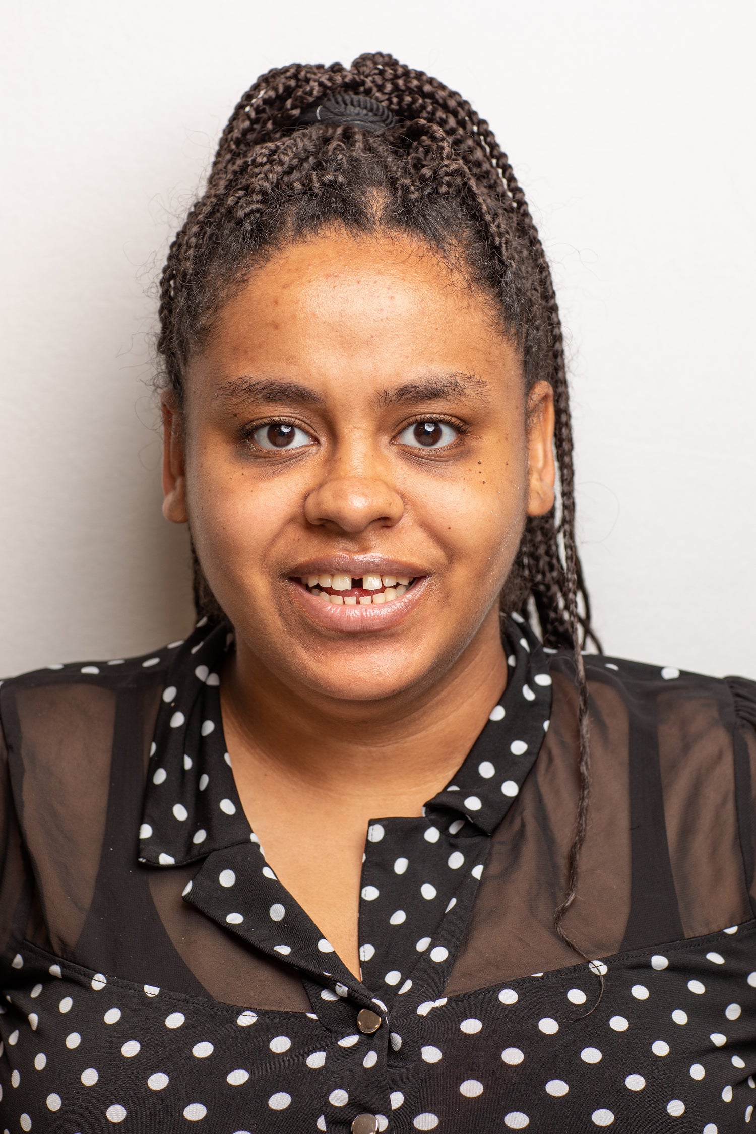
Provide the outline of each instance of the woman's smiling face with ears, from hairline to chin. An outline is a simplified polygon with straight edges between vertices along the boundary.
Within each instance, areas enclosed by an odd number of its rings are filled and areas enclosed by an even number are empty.
[[[371,701],[500,649],[526,515],[553,503],[549,384],[528,403],[490,302],[422,245],[328,234],[256,270],[182,420],[165,404],[164,513],[239,651]]]

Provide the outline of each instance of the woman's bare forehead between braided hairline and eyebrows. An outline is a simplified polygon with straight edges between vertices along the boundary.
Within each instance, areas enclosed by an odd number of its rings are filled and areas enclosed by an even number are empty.
[[[256,268],[189,370],[202,384],[253,374],[354,389],[427,373],[519,373],[519,353],[492,299],[426,246],[337,232]]]

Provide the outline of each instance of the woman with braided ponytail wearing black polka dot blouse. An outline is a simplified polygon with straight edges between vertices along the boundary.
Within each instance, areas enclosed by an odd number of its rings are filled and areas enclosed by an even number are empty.
[[[756,688],[581,652],[487,125],[389,56],[265,75],[161,321],[202,617],[1,691],[5,1127],[740,1129]]]

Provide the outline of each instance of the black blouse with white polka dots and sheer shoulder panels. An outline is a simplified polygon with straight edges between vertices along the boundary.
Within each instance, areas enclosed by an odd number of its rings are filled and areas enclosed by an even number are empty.
[[[362,980],[241,810],[228,627],[5,683],[0,1132],[751,1123],[756,686],[586,657],[592,810],[564,926],[584,959],[553,926],[574,667],[519,620],[506,642],[452,782],[367,828]]]

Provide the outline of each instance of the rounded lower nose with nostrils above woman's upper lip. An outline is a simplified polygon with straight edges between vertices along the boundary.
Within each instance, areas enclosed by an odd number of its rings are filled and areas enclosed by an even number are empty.
[[[311,524],[350,534],[372,526],[393,527],[404,511],[397,490],[379,477],[329,477],[305,500],[305,517]]]

